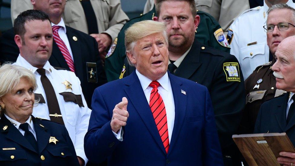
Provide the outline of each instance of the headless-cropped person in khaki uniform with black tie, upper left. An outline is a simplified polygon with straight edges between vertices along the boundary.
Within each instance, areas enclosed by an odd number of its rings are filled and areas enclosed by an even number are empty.
[[[33,9],[30,0],[11,0],[12,22],[20,12],[28,9]],[[129,20],[120,0],[67,0],[63,19],[67,26],[96,38],[102,55]]]

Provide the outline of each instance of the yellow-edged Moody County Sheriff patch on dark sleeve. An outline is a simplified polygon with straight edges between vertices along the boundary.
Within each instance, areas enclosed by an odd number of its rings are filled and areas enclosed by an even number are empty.
[[[223,70],[226,76],[226,81],[241,82],[239,64],[236,62],[223,63]]]

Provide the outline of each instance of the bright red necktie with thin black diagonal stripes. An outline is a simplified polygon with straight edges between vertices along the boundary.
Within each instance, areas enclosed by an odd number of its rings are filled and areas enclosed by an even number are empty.
[[[153,113],[154,120],[157,125],[157,129],[163,142],[165,151],[166,153],[168,153],[169,136],[167,127],[167,116],[164,101],[158,93],[158,87],[160,86],[160,83],[158,83],[158,81],[152,81],[149,86],[153,88],[150,96],[151,111]]]

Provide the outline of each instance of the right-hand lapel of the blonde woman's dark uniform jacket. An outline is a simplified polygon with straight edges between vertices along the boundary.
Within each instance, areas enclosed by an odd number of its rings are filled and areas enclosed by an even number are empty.
[[[36,132],[37,144],[38,144],[38,151],[41,153],[44,148],[49,143],[50,134],[46,132],[47,128],[40,124],[33,116],[32,120],[34,123],[34,128]],[[41,126],[42,125],[42,126]]]

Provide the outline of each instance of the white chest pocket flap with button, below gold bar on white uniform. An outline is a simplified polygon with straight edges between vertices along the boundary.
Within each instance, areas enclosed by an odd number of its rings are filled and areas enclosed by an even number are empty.
[[[241,48],[242,58],[253,58],[255,55],[264,54],[265,52],[265,43],[259,43],[247,47]]]

